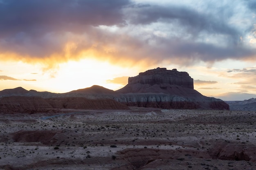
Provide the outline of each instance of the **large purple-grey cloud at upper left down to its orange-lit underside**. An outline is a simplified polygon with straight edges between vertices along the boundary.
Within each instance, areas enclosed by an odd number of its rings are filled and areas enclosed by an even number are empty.
[[[81,34],[91,26],[125,24],[121,9],[129,3],[129,0],[2,0],[0,52],[29,57],[61,53],[67,32]]]

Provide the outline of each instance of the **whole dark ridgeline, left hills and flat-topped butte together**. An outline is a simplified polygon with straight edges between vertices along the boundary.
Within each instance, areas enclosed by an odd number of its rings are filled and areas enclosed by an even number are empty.
[[[129,109],[128,106],[229,110],[221,99],[193,89],[193,79],[176,69],[156,68],[129,77],[117,91],[101,86],[68,93],[27,91],[18,87],[0,91],[0,113],[59,112],[60,109]]]

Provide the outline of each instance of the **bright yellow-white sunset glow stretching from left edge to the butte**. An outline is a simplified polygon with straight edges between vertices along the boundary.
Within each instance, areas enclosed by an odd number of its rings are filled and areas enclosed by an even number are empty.
[[[8,65],[9,67],[7,67]],[[1,63],[0,66],[12,75],[12,77],[5,80],[5,84],[0,84],[2,89],[22,86],[27,90],[34,89],[54,93],[65,93],[93,85],[117,90],[122,88],[124,84],[112,83],[109,80],[115,77],[137,74],[137,70],[132,67],[123,68],[118,65],[112,65],[109,62],[94,59],[68,61],[49,69],[40,67],[38,64],[26,64],[23,62],[6,62],[5,64]],[[28,79],[34,81],[27,81]]]

